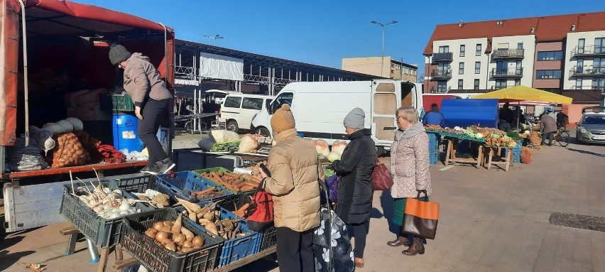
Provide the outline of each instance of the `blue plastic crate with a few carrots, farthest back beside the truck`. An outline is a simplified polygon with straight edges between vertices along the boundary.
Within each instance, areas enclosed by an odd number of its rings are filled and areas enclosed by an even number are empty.
[[[221,197],[231,195],[229,190],[225,190],[224,187],[212,183],[212,181],[202,178],[201,175],[197,175],[191,171],[182,171],[174,174],[163,174],[156,176],[157,190],[166,195],[169,195],[173,200],[175,197],[190,200],[192,202],[199,202],[202,200],[213,200]],[[205,190],[209,187],[217,187],[218,192],[214,196],[208,196],[203,199],[197,199],[191,195],[191,192],[197,192]]]

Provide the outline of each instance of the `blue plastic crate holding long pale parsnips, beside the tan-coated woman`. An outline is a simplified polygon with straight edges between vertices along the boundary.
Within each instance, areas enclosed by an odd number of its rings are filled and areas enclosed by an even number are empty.
[[[207,202],[200,202],[199,204],[200,204],[200,206],[204,207],[206,205],[212,205],[213,202],[207,201]],[[242,219],[241,217],[236,217],[235,214],[233,214],[232,212],[229,212],[229,210],[226,210],[223,207],[221,207],[220,203],[219,203],[219,205],[217,205],[217,208],[219,208],[219,210],[221,211],[220,219],[241,219],[241,221],[237,223],[238,227],[243,229],[244,232],[249,233],[246,236],[241,236],[241,237],[237,237],[234,239],[226,240],[220,236],[216,236],[214,234],[207,232],[207,234],[212,236],[213,238],[225,240],[223,247],[222,247],[220,257],[219,257],[217,267],[227,266],[227,264],[229,264],[229,263],[232,263],[239,259],[244,259],[247,256],[251,256],[253,254],[257,254],[261,250],[262,233],[251,231],[248,228],[248,222],[246,222],[245,219]],[[182,212],[182,210],[184,210],[184,209],[185,209],[184,207],[176,208],[176,210],[178,212]],[[185,219],[185,217],[183,217],[183,219]],[[188,218],[186,220],[190,221],[190,219],[188,219]],[[206,231],[206,229],[204,229],[204,227],[201,227],[201,228],[204,231]]]

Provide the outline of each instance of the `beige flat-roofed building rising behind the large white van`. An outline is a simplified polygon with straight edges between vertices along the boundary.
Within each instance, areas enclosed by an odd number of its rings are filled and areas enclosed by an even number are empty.
[[[341,69],[349,72],[375,75],[376,77],[391,78],[393,80],[408,80],[410,82],[418,80],[417,65],[393,60],[391,56],[384,56],[384,62],[381,57],[342,58]]]

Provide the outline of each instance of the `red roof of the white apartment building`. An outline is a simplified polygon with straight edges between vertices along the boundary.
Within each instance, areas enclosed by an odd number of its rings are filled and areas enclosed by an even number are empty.
[[[594,13],[574,13],[556,16],[512,18],[481,22],[460,22],[438,25],[427,43],[423,55],[432,55],[435,40],[459,40],[467,38],[488,38],[502,36],[535,35],[536,42],[564,40],[569,32],[605,30],[605,11]],[[501,23],[498,23],[501,22]],[[575,31],[571,31],[575,24]],[[534,32],[531,33],[531,29]],[[491,52],[491,46],[486,48]]]

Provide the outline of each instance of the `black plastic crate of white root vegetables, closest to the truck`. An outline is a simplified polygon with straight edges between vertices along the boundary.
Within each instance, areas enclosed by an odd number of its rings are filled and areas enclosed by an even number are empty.
[[[96,180],[96,179],[94,179]],[[74,183],[74,186],[84,186],[82,183]],[[135,199],[128,192],[122,192],[125,197]],[[76,192],[76,195],[85,195],[82,192]],[[153,210],[153,207],[144,205],[141,202],[135,204],[141,212]],[[99,217],[94,211],[90,210],[84,203],[77,200],[71,193],[71,186],[63,187],[63,198],[61,201],[60,214],[71,222],[82,234],[94,242],[100,248],[114,246],[120,242],[120,232],[122,217],[114,219],[104,219]]]

